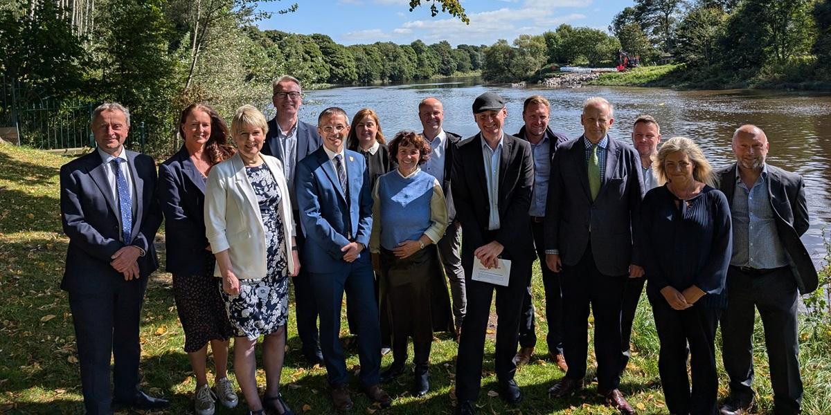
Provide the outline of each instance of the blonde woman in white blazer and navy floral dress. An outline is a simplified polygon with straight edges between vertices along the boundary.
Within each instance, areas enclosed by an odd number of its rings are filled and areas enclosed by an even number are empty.
[[[205,191],[205,232],[216,256],[214,276],[234,326],[234,374],[249,414],[263,407],[292,413],[280,394],[286,348],[288,276],[300,261],[294,241],[292,204],[278,159],[260,154],[268,124],[263,114],[244,105],[231,121],[237,154],[217,164]],[[262,401],[255,377],[254,346],[260,334],[266,364]]]

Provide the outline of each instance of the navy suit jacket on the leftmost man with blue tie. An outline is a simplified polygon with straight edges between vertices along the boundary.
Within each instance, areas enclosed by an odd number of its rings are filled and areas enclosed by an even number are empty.
[[[69,237],[66,269],[61,288],[77,294],[110,291],[125,282],[110,262],[121,247],[133,245],[145,251],[138,258],[140,279],[159,267],[153,238],[161,224],[161,211],[155,198],[156,169],[150,156],[123,149],[133,179],[135,210],[130,241],[120,242],[118,202],[107,181],[107,166],[97,151],[92,151],[61,166],[61,222]],[[135,281],[135,280],[133,280]]]

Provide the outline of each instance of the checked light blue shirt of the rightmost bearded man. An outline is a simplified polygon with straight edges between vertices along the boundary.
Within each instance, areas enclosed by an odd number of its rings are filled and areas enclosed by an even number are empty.
[[[739,167],[735,170],[735,193],[730,201],[733,219],[732,266],[749,266],[759,270],[788,265],[779,232],[776,231],[773,207],[768,192],[768,166],[748,189],[741,181]]]

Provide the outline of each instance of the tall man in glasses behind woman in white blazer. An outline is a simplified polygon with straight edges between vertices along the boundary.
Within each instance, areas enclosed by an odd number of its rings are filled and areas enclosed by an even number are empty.
[[[283,162],[283,173],[288,183],[288,192],[294,194],[297,164],[320,148],[320,135],[313,125],[297,119],[300,105],[303,103],[300,81],[293,76],[283,75],[273,82],[272,102],[277,115],[268,121],[268,134],[263,149],[260,151],[280,159]],[[297,200],[292,198],[294,222],[300,221],[297,212]],[[297,227],[298,255],[303,255],[304,230]],[[322,364],[323,355],[318,344],[317,334],[317,305],[314,300],[314,290],[306,277],[306,267],[300,269],[297,278],[292,279],[294,285],[294,315],[297,318],[297,335],[302,342],[302,352],[309,363]]]

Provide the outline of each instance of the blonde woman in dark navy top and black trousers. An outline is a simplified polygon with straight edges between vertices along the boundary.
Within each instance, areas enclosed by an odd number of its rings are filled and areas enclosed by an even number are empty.
[[[643,242],[666,407],[670,413],[711,415],[718,413],[715,328],[726,305],[730,205],[712,187],[710,164],[691,139],[668,140],[652,168],[658,183],[666,184],[643,199]]]

